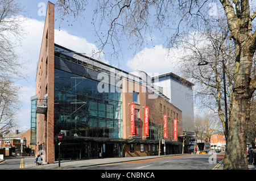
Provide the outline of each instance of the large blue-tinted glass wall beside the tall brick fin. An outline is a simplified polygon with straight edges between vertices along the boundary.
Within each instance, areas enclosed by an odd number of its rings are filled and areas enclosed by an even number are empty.
[[[122,94],[100,93],[98,83],[55,69],[55,135],[122,138]]]

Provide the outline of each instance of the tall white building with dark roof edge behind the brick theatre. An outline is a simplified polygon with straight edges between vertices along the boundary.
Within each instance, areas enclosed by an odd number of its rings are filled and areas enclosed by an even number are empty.
[[[152,83],[163,87],[163,94],[182,111],[183,131],[194,132],[193,83],[171,72],[152,77]]]

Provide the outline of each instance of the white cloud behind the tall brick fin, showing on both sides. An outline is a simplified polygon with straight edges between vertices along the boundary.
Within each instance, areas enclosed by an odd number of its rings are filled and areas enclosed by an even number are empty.
[[[22,28],[26,34],[20,41],[22,46],[16,50],[19,54],[19,61],[24,62],[24,66],[27,68],[20,68],[20,71],[26,75],[27,79],[16,81],[16,84],[21,87],[19,99],[22,107],[18,115],[20,127],[30,128],[30,97],[35,95],[36,68],[42,43],[44,22],[36,19],[24,19]],[[55,43],[80,53],[86,53],[87,56],[91,56],[92,51],[97,50],[96,45],[89,43],[85,38],[73,36],[67,31],[55,30],[55,35]],[[104,58],[101,58],[102,60],[104,61]]]

